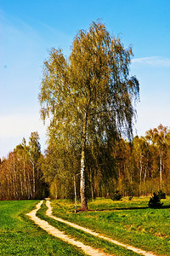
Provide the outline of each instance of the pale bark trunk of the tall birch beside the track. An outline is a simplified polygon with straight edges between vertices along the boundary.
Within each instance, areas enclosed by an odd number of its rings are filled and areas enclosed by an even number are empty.
[[[81,196],[82,211],[88,211],[88,201],[86,197],[86,176],[85,176],[86,129],[87,129],[87,114],[85,113],[83,129],[82,129],[82,157],[81,157],[81,177],[80,177],[80,196]]]

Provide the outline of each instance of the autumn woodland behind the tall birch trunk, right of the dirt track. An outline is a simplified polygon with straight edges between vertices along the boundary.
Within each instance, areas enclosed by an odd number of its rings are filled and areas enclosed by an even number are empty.
[[[86,148],[86,193],[88,198],[150,195],[162,189],[170,194],[170,131],[159,125],[134,137],[131,143],[112,138]],[[81,150],[51,144],[42,159],[42,172],[54,198],[80,195]]]

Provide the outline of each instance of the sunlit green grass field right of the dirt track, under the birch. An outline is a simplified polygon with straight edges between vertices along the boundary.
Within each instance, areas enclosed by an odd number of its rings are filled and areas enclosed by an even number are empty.
[[[150,209],[148,201],[149,198],[133,198],[133,201],[96,199],[89,201],[89,212],[77,213],[70,201],[53,201],[52,206],[54,215],[59,218],[134,247],[170,255],[170,198],[162,200],[161,209]]]

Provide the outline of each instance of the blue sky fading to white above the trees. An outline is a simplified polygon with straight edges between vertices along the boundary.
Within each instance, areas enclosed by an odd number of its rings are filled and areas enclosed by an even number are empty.
[[[97,19],[133,45],[138,135],[170,126],[170,0],[0,0],[0,158],[31,131],[46,147],[37,100],[42,63],[53,47],[68,56],[77,31]]]

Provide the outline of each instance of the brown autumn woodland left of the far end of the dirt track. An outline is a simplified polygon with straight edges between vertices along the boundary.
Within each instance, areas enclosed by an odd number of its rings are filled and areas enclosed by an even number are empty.
[[[42,198],[46,193],[42,171],[39,167],[41,147],[37,132],[26,139],[0,161],[0,200]]]

